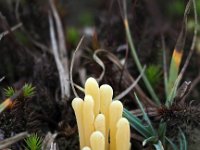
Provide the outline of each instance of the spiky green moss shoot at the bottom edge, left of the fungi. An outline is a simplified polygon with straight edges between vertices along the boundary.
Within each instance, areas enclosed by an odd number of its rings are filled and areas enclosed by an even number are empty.
[[[30,135],[25,139],[25,149],[26,150],[41,150],[42,149],[42,138],[39,137],[36,133]]]

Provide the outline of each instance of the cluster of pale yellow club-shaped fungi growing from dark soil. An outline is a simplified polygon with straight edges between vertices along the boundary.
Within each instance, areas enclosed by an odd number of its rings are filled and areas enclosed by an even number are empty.
[[[112,100],[113,89],[99,87],[94,78],[85,83],[85,97],[74,98],[81,150],[130,150],[130,125],[122,117],[123,105]]]

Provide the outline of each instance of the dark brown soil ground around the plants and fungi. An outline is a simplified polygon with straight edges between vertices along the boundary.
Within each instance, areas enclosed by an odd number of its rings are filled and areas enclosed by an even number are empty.
[[[147,67],[151,65],[161,67],[161,78],[154,88],[164,102],[161,36],[164,36],[169,65],[181,29],[184,8],[182,11],[180,10],[180,13],[171,10],[173,0],[164,2],[131,0],[127,3],[131,34],[141,63],[146,64]],[[185,7],[186,1],[182,2],[182,5]],[[87,77],[98,78],[100,76],[102,68],[94,61],[93,54],[96,49],[101,48],[112,53],[115,56],[115,62],[107,57],[106,53],[98,55],[106,66],[100,84],[110,84],[114,89],[115,96],[124,91],[132,83],[132,78],[137,78],[139,72],[131,51],[120,48],[127,45],[120,13],[121,4],[113,0],[86,0],[84,2],[55,0],[55,6],[64,28],[69,62],[72,60],[74,49],[85,28],[94,29],[92,36],[85,37],[75,58],[74,82],[83,87]],[[19,0],[19,3],[17,1],[0,1],[0,33],[10,30],[19,22],[22,23],[20,28],[0,40],[0,77],[5,77],[0,82],[0,97],[2,101],[6,98],[4,88],[8,86],[19,90],[25,83],[32,83],[36,87],[36,94],[33,97],[25,100],[17,99],[16,105],[0,114],[0,137],[5,139],[22,131],[36,132],[41,137],[45,137],[48,132],[59,133],[56,138],[59,149],[74,150],[79,149],[76,120],[71,108],[71,101],[75,96],[71,90],[69,97],[61,98],[59,72],[51,51],[49,11],[50,6],[47,0]],[[192,13],[190,13],[189,19],[193,19]],[[75,29],[75,33],[70,36],[69,32],[72,28]],[[183,62],[188,55],[192,37],[193,30],[188,30]],[[198,51],[196,48],[183,81],[194,81],[198,77],[200,71]],[[123,68],[117,66],[117,63],[120,62],[125,62]],[[139,85],[149,96],[144,83],[140,81]],[[197,84],[187,97],[187,104],[191,100],[199,100],[199,90],[200,86]],[[79,92],[79,95],[81,94]],[[125,108],[130,110],[137,108],[133,91],[123,98],[122,102]],[[196,117],[200,118],[198,115]],[[175,135],[171,131],[176,131],[177,127],[175,126],[180,125],[182,120],[177,117],[175,119],[177,124],[171,124],[170,121],[174,122],[173,118],[168,120],[168,133],[169,136],[174,137]],[[187,124],[186,119],[184,124],[186,127],[183,129],[188,130],[188,137],[191,133],[199,135],[199,123]],[[195,129],[192,129],[193,127]],[[199,145],[196,137],[198,136],[189,140],[195,145],[191,146],[191,150],[195,149],[192,147]],[[148,146],[142,148],[139,139],[132,138],[131,142],[132,149],[152,149]],[[13,144],[11,149],[19,149],[23,144],[22,140]]]

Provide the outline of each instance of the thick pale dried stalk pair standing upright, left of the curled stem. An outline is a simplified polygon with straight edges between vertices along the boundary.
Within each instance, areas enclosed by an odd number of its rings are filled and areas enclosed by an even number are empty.
[[[68,55],[65,47],[63,28],[53,0],[50,0],[50,6],[53,14],[53,16],[49,14],[51,45],[60,77],[61,97],[64,99],[70,97]],[[53,20],[55,21],[57,33],[55,31]],[[56,39],[56,35],[58,35],[58,40]]]

